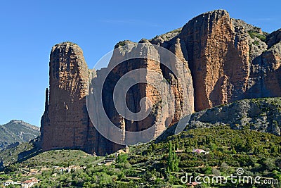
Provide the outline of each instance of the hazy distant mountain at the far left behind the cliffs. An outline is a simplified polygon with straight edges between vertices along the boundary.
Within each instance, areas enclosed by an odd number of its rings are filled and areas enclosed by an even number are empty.
[[[16,146],[20,142],[29,142],[39,134],[39,127],[22,120],[11,120],[5,125],[0,125],[0,149]]]

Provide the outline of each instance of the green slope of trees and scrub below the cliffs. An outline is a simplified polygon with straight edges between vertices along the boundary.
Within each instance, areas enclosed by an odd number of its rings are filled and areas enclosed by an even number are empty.
[[[4,181],[37,177],[42,181],[35,187],[185,187],[186,184],[181,183],[184,173],[226,176],[243,168],[244,175],[259,175],[280,182],[280,144],[281,137],[251,131],[249,127],[243,130],[231,130],[228,126],[199,128],[168,137],[157,144],[132,146],[129,155],[119,154],[111,165],[98,165],[104,157],[91,156],[83,151],[47,151],[22,163],[9,165],[0,178]],[[209,153],[197,155],[191,152],[192,149],[204,149]],[[113,155],[107,157],[114,158]],[[171,163],[175,162],[178,163],[176,168],[171,168]],[[55,169],[55,166],[71,165],[79,168],[70,173]],[[27,172],[32,170],[40,173],[29,175]],[[202,186],[251,187],[251,184],[228,182]]]

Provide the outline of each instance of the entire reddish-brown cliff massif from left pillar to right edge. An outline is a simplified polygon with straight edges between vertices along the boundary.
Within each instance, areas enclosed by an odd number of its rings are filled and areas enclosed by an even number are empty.
[[[227,11],[218,10],[198,15],[178,30],[153,39],[142,39],[137,45],[155,44],[175,54],[180,61],[171,59],[170,63],[179,77],[175,77],[159,61],[149,58],[150,54],[157,56],[155,49],[144,48],[146,58],[125,61],[110,71],[103,85],[105,112],[117,127],[131,132],[148,129],[159,120],[162,124],[156,125],[156,138],[165,130],[166,122],[172,125],[194,111],[240,99],[281,96],[280,36],[281,30],[268,34],[259,27],[230,18]],[[112,58],[132,53],[132,49],[122,48],[125,44],[136,43],[119,42]],[[124,147],[105,139],[96,130],[86,108],[90,78],[95,88],[95,83],[98,85],[101,75],[108,68],[89,70],[77,44],[64,42],[53,46],[49,91],[46,91],[46,107],[41,119],[41,146],[44,151],[82,149],[104,155]],[[150,84],[131,87],[126,96],[126,104],[131,111],[140,110],[138,104],[143,97],[150,99],[153,107],[152,113],[144,120],[126,120],[115,109],[112,91],[122,76],[138,68],[159,73],[159,77],[152,77],[152,80],[166,80],[171,89],[166,89],[164,84],[159,85],[160,91]],[[162,91],[174,94],[173,115],[169,113],[171,109],[162,115]],[[96,119],[97,123],[102,123],[98,113]],[[273,133],[280,135],[279,129],[275,128]],[[122,139],[126,139],[126,134]]]

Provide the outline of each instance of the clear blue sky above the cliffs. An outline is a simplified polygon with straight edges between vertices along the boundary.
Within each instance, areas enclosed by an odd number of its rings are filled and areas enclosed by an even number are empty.
[[[79,44],[93,68],[120,40],[150,39],[214,9],[272,32],[281,27],[280,6],[280,0],[1,1],[0,124],[40,125],[54,44]]]

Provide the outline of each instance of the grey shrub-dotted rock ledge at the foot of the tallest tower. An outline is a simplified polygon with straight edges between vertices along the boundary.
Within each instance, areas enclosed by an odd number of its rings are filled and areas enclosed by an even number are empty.
[[[243,99],[232,104],[209,108],[190,115],[185,131],[197,128],[230,126],[233,130],[249,129],[281,136],[281,98]],[[175,132],[169,127],[155,142],[162,142]]]

